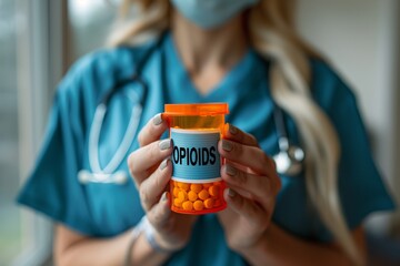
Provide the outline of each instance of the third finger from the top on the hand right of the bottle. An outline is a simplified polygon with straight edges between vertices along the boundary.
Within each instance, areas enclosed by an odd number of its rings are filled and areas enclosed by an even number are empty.
[[[274,195],[269,177],[246,173],[229,164],[222,166],[221,177],[229,187],[239,192],[242,196],[258,201],[263,208],[269,207],[271,197]],[[248,192],[251,196],[242,194],[241,191]]]

